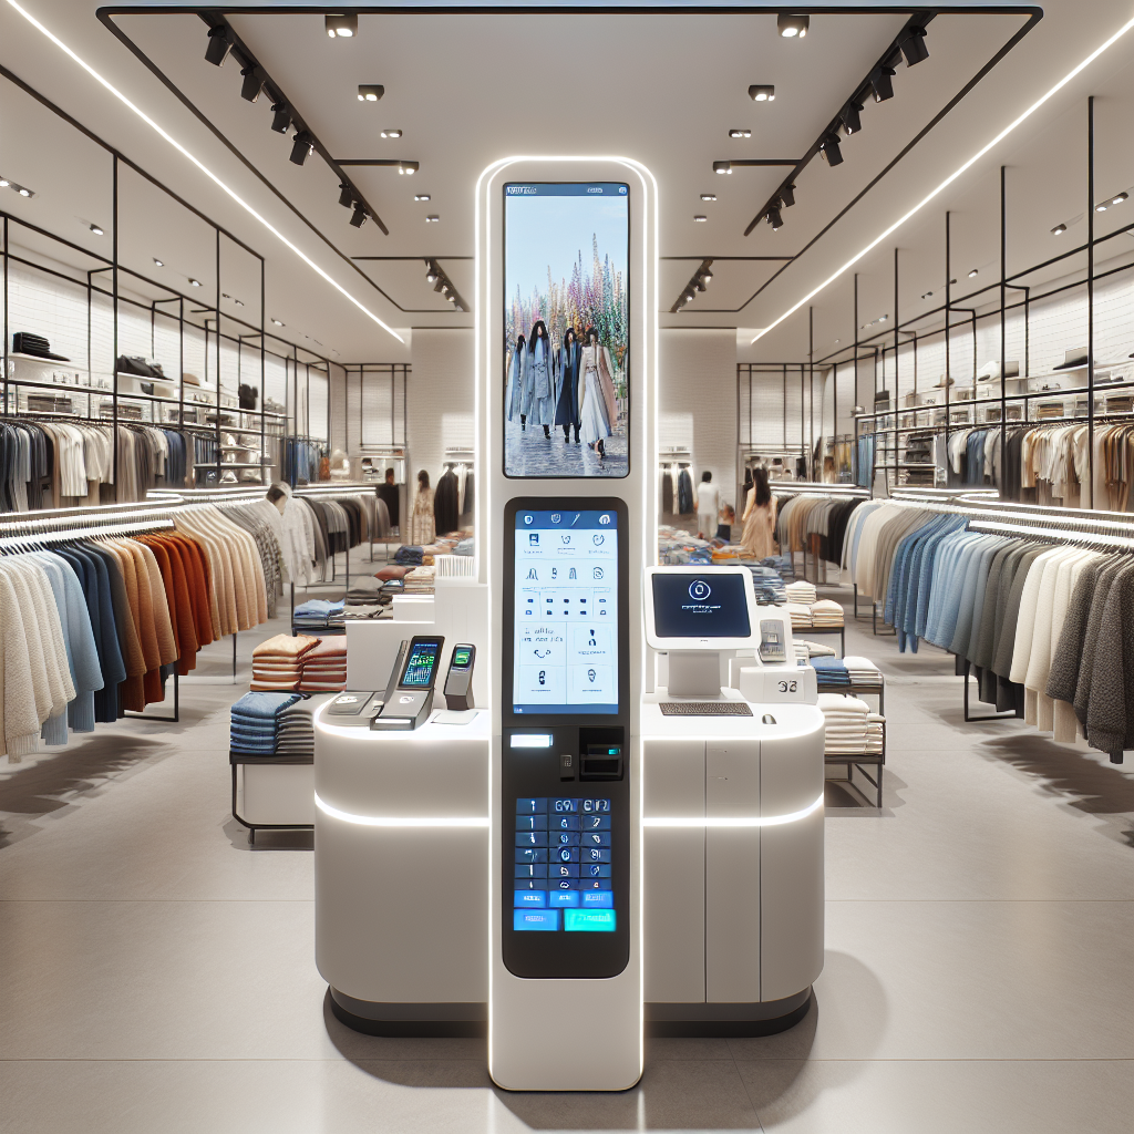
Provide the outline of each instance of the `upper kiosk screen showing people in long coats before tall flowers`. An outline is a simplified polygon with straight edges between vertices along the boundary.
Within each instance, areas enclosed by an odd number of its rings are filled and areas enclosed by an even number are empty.
[[[507,476],[629,471],[629,187],[503,186]]]

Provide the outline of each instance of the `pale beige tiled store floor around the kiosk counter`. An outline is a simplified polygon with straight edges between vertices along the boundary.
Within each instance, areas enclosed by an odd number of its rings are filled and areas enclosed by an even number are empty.
[[[0,763],[0,1131],[1126,1132],[1134,769],[964,725],[941,653],[862,625],[847,650],[889,682],[885,807],[828,788],[812,1012],[653,1041],[618,1095],[507,1094],[482,1041],[331,1017],[303,838],[251,852],[229,815],[229,643],[183,685],[181,725]],[[240,635],[245,682],[262,636]]]

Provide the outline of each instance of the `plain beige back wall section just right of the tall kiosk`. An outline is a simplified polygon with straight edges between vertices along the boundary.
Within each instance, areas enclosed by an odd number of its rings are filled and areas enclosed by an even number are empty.
[[[709,469],[722,502],[735,505],[735,329],[663,330],[659,362],[660,447],[685,446],[694,480]]]

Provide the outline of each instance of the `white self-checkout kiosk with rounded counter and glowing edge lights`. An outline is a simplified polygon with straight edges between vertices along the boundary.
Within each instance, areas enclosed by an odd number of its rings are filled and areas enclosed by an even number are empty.
[[[625,1090],[644,1027],[754,1034],[806,1012],[822,714],[746,568],[651,566],[649,171],[511,159],[476,209],[476,581],[459,604],[439,582],[433,625],[375,627],[381,661],[352,661],[316,713],[316,962],[353,1027],[486,1033],[508,1090]],[[601,397],[615,426],[602,449],[593,421],[578,445],[547,435],[539,382],[527,400],[513,381],[509,320],[552,325],[507,251],[531,251],[538,217],[549,244],[585,228],[584,274],[617,301],[576,370],[576,406]]]

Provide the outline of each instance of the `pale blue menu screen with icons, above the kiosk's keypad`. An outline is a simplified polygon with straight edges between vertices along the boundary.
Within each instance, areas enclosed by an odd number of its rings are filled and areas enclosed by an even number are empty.
[[[513,712],[618,712],[618,515],[516,513]]]

